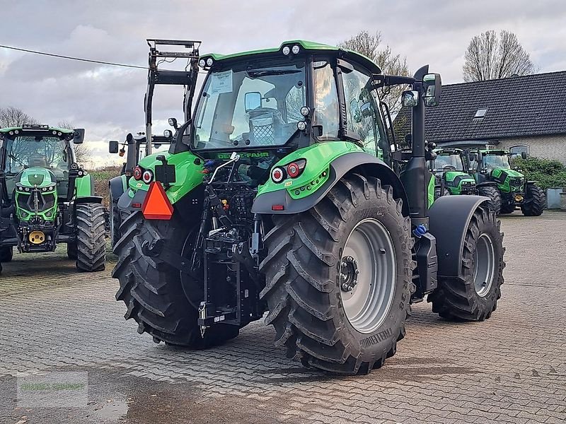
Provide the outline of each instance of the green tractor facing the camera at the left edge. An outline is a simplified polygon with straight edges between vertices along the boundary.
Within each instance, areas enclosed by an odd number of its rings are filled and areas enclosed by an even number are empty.
[[[105,268],[105,220],[91,175],[76,164],[83,129],[0,129],[0,262],[67,243],[79,271]]]

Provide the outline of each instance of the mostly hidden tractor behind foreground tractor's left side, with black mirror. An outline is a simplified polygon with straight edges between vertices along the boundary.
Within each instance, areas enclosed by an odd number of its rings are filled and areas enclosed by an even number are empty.
[[[172,126],[176,124],[176,121],[171,120]],[[108,182],[108,192],[110,193],[110,240],[112,240],[112,247],[120,239],[122,220],[127,218],[127,213],[118,209],[118,199],[127,191],[128,182],[132,175],[138,180],[143,176],[140,173],[140,168],[137,167],[139,160],[151,154],[154,148],[158,150],[170,146],[173,141],[173,132],[170,129],[166,129],[163,131],[163,136],[152,136],[151,139],[153,143],[148,144],[144,133],[138,133],[136,136],[129,133],[126,136],[125,142],[122,143],[122,147],[120,147],[118,141],[108,142],[108,151],[110,153],[118,153],[120,157],[123,157],[127,152],[126,162],[122,165],[120,175],[110,179],[110,182]]]

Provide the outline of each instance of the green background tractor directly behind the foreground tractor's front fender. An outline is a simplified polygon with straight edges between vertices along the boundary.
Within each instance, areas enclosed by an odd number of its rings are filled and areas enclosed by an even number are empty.
[[[436,157],[429,160],[429,168],[436,177],[434,198],[439,196],[475,194],[488,197],[487,206],[496,214],[501,209],[501,196],[493,182],[476,183],[468,174],[466,153],[459,148],[437,148]]]

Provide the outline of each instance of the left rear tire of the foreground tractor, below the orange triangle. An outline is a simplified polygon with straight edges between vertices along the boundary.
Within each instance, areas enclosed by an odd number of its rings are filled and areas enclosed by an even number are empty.
[[[127,311],[125,319],[133,318],[138,333],[151,334],[154,341],[203,349],[224,343],[238,336],[239,329],[228,324],[216,324],[200,334],[197,326],[198,302],[204,297],[202,281],[180,279],[180,272],[141,251],[144,242],[165,242],[168,249],[182,254],[190,239],[186,223],[175,216],[171,220],[146,220],[141,212],[128,216],[120,228],[122,237],[114,247],[118,263],[112,277],[120,281],[116,300],[122,300]],[[191,300],[185,293],[191,293]],[[198,298],[200,297],[200,299]]]

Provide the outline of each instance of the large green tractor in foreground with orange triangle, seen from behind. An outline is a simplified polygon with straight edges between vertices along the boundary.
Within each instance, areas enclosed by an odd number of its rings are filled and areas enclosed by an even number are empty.
[[[118,201],[129,216],[112,276],[140,334],[207,348],[267,313],[289,358],[364,374],[395,354],[413,302],[427,297],[445,319],[495,311],[504,249],[487,199],[429,207],[424,109],[441,81],[428,66],[388,76],[356,52],[306,41],[227,56],[200,56],[200,42],[149,44],[146,102],[178,72],[187,120],[167,153],[139,161],[147,178],[129,179]],[[188,71],[156,66],[175,57]],[[411,86],[411,151],[395,145],[379,100],[399,84]]]

